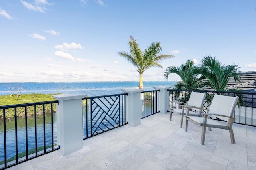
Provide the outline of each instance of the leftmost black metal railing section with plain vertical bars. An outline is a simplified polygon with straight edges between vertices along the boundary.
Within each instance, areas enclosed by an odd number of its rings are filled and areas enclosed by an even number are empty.
[[[59,149],[56,103],[0,106],[0,169]]]

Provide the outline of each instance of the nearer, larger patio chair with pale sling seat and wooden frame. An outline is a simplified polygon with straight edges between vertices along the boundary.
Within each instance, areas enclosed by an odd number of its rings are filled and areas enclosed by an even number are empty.
[[[188,121],[191,121],[192,123],[201,126],[201,144],[204,145],[206,127],[208,127],[210,131],[212,131],[212,128],[226,129],[229,130],[231,143],[235,144],[236,142],[232,125],[235,119],[233,115],[236,103],[238,102],[238,98],[238,96],[231,97],[223,95],[214,95],[210,106],[210,110],[208,110],[207,113],[202,113],[203,117],[186,115],[185,131],[188,131]],[[216,117],[217,119],[223,121],[211,119],[210,116]]]

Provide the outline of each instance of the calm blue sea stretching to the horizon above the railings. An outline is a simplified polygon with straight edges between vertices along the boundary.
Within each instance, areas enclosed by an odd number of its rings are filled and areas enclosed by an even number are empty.
[[[153,87],[170,86],[176,82],[170,81],[146,81],[143,82],[144,91],[154,90]],[[123,93],[122,89],[135,89],[138,82],[60,82],[60,83],[0,83],[0,95],[10,95],[17,93],[19,87],[22,88],[20,94],[29,93],[72,93],[92,96],[112,95]],[[11,91],[11,89],[13,89]]]

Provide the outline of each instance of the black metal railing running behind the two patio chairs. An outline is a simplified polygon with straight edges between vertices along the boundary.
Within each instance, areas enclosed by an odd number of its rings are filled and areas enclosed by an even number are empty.
[[[186,102],[189,99],[191,91],[189,90],[168,90],[170,93],[170,100]],[[214,94],[239,96],[238,105],[236,106],[234,117],[236,118],[234,123],[256,126],[256,93],[247,92],[234,92],[234,91],[196,91],[206,92],[206,99],[203,106],[206,109],[210,109],[210,104]],[[178,108],[178,104],[174,104],[173,107]]]

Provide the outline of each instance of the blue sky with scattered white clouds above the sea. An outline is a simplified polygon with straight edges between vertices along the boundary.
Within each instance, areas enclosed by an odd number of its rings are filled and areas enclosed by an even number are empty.
[[[144,81],[206,55],[256,71],[256,0],[0,0],[0,82],[138,81],[130,36],[175,55]]]

